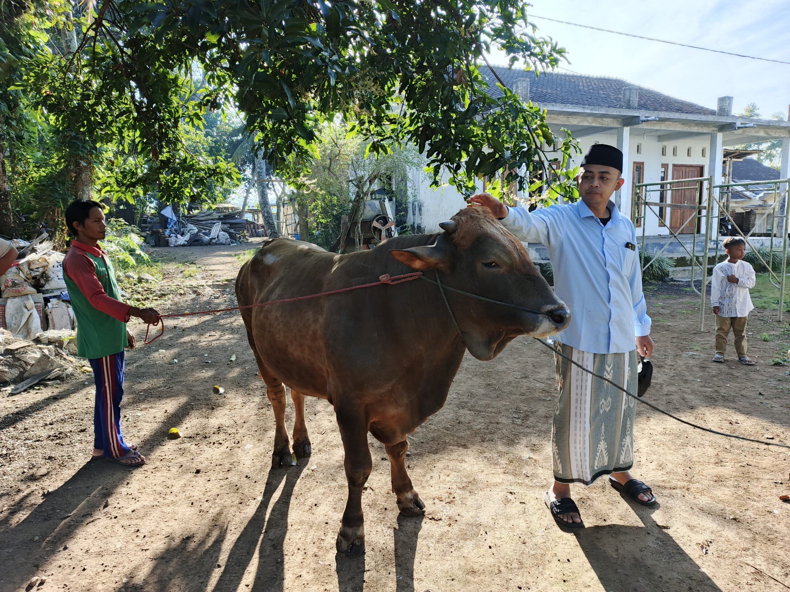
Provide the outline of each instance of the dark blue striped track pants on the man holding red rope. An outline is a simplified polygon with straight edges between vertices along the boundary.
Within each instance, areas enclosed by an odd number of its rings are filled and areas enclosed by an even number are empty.
[[[96,381],[96,405],[93,408],[93,448],[103,450],[107,458],[126,456],[130,448],[121,433],[121,399],[123,399],[123,351],[104,358],[89,359]]]

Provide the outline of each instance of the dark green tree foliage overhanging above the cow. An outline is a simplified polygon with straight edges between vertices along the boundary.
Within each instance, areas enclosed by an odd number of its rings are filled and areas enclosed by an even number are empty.
[[[517,0],[126,0],[119,7],[139,13],[176,62],[198,59],[217,84],[228,84],[279,174],[298,176],[289,167],[308,157],[317,126],[336,116],[355,122],[374,153],[416,144],[435,179],[447,170],[465,189],[501,169],[517,170],[521,185],[530,171],[549,177],[547,168],[570,148],[555,141],[543,112],[497,89],[483,66],[492,46],[539,70],[562,59],[556,43],[535,36]]]

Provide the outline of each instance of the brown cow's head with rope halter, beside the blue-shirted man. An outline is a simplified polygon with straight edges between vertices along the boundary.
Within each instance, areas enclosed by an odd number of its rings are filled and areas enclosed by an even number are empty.
[[[546,337],[568,325],[566,305],[540,275],[527,249],[487,208],[465,208],[440,224],[433,245],[393,250],[410,268],[438,270],[442,283],[499,302],[539,310],[529,313],[446,291],[469,353],[491,360],[518,335]],[[438,290],[438,288],[437,288]]]

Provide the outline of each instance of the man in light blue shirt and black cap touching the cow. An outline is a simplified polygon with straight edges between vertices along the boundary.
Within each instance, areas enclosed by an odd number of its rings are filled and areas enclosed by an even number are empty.
[[[637,392],[638,357],[653,353],[642,293],[636,230],[611,196],[623,186],[623,153],[593,144],[581,162],[581,200],[529,212],[488,193],[469,202],[489,208],[523,242],[545,245],[555,291],[570,308],[570,324],[555,347],[596,373]],[[558,524],[584,526],[570,483],[591,485],[608,474],[615,489],[652,505],[650,488],[634,479],[634,399],[555,356],[559,403],[551,433],[555,483],[544,501]]]

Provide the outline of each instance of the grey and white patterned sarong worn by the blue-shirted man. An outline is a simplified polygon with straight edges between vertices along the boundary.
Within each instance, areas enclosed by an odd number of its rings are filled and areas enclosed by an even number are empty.
[[[562,354],[636,394],[636,349],[627,354],[590,354],[561,343]],[[551,465],[562,483],[591,485],[601,475],[634,464],[636,401],[555,355],[559,402],[551,428]]]

